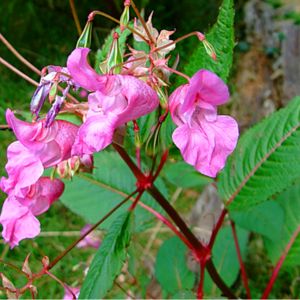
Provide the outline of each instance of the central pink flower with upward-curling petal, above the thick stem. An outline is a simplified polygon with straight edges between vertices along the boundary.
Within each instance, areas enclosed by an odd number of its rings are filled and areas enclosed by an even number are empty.
[[[77,48],[68,58],[73,81],[92,91],[89,110],[80,127],[72,155],[92,154],[108,146],[115,129],[152,112],[158,105],[156,92],[130,75],[99,75],[87,63],[89,49]]]

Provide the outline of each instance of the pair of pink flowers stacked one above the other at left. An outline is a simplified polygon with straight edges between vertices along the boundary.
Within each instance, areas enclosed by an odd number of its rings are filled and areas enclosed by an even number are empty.
[[[70,157],[78,127],[60,120],[49,128],[45,120],[30,124],[18,120],[11,110],[7,110],[6,120],[18,141],[7,149],[8,178],[1,178],[0,187],[8,197],[0,222],[3,238],[13,248],[20,240],[39,234],[35,216],[47,211],[62,194],[64,184],[59,179],[42,175],[45,168]]]

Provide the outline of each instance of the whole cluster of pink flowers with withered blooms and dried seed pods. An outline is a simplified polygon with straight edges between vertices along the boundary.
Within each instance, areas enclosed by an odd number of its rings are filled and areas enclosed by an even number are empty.
[[[133,29],[134,38],[145,42],[149,51],[129,47],[120,68],[116,68],[120,65],[118,56],[109,53],[106,73],[98,74],[88,63],[89,48],[78,47],[68,57],[66,67],[51,66],[44,70],[31,102],[35,115],[32,123],[17,119],[7,110],[7,123],[18,141],[7,150],[8,178],[1,179],[0,188],[8,197],[0,222],[2,235],[11,247],[40,232],[36,216],[48,210],[63,192],[63,182],[43,177],[44,169],[55,167],[61,178],[69,178],[76,171],[92,171],[91,155],[113,142],[116,129],[151,113],[160,102],[160,111],[170,111],[177,125],[173,141],[183,159],[211,177],[224,167],[238,138],[236,121],[217,115],[217,106],[229,99],[228,88],[216,74],[200,70],[168,97],[169,76],[179,72],[168,67],[166,55],[176,43],[169,39],[173,31],[158,33],[151,17],[146,28],[135,22]],[[209,45],[204,35],[196,35]],[[111,51],[119,53],[117,40],[115,34]],[[209,49],[214,57],[211,46]],[[111,57],[115,57],[115,65],[109,69]],[[58,95],[61,83],[63,92]],[[71,89],[82,89],[87,102],[68,102]],[[47,97],[53,102],[52,108],[45,118],[39,119]],[[61,109],[80,115],[81,126],[55,120]]]

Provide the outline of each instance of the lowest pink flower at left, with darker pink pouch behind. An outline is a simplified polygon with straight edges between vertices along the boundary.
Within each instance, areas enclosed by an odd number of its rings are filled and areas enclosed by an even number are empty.
[[[24,187],[21,195],[10,193],[5,200],[0,216],[2,236],[13,248],[25,238],[34,238],[40,233],[40,223],[35,216],[47,211],[64,190],[64,184],[48,177]]]

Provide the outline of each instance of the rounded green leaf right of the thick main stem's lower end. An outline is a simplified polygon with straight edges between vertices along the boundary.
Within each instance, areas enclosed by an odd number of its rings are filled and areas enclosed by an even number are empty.
[[[248,232],[244,229],[236,227],[238,242],[241,250],[242,258],[246,257]],[[213,263],[217,272],[224,282],[231,286],[240,271],[240,265],[236,254],[232,230],[229,226],[223,227],[216,238],[213,250]],[[220,295],[220,291],[205,271],[204,293],[207,297],[215,297]]]

